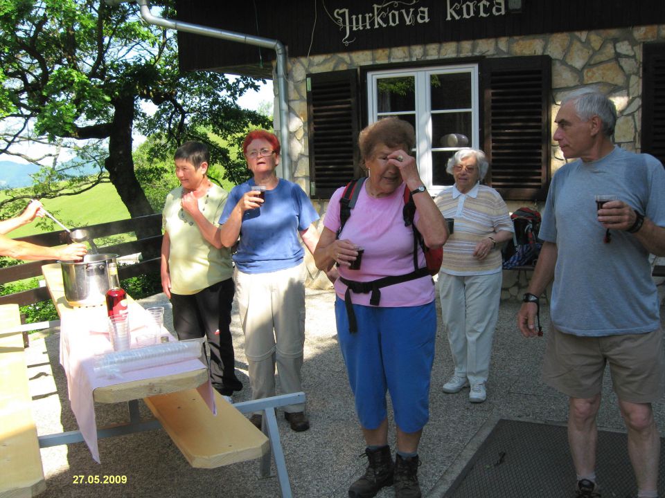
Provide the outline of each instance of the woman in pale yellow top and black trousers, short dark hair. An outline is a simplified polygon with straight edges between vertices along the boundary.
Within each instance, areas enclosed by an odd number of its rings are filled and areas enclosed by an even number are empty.
[[[199,142],[175,151],[181,187],[166,196],[162,213],[161,286],[173,306],[178,338],[206,336],[213,387],[231,396],[242,389],[230,329],[236,290],[231,252],[215,239],[229,194],[209,180],[209,162],[208,147]]]

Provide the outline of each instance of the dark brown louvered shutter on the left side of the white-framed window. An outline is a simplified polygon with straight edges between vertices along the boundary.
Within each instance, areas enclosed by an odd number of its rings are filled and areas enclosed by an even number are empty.
[[[307,75],[312,197],[332,192],[360,173],[358,77],[355,69]]]

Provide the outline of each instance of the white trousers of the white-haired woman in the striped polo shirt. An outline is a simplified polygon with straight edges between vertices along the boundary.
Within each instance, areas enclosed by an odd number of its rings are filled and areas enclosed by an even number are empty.
[[[502,273],[461,277],[438,274],[443,325],[455,375],[470,384],[486,382],[499,317]]]

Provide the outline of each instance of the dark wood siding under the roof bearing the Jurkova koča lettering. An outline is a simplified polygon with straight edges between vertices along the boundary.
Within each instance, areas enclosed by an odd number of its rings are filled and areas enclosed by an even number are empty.
[[[349,15],[374,12],[375,0],[292,0],[245,2],[177,0],[177,18],[192,24],[230,30],[235,33],[278,39],[288,47],[290,57],[327,53],[351,53],[394,46],[459,42],[469,39],[515,37],[542,33],[628,28],[665,23],[663,0],[522,0],[522,12],[479,16],[480,2],[471,0],[419,0],[414,5],[384,2],[398,10],[396,26],[350,30],[345,40],[344,26],[333,21],[335,10],[348,9]],[[507,6],[507,1],[505,2]],[[485,4],[483,4],[485,5]],[[489,10],[495,0],[488,0]],[[455,19],[449,8],[474,12]],[[401,10],[427,8],[429,21],[406,24]],[[471,10],[469,10],[471,9]],[[487,9],[486,9],[487,10]],[[235,42],[178,34],[180,67],[184,70],[236,67],[249,71],[270,68],[274,50]]]

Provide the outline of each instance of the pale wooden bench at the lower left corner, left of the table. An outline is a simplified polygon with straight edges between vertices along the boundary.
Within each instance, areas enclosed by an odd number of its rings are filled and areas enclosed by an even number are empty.
[[[0,306],[0,497],[46,490],[37,427],[30,409],[19,306]]]

